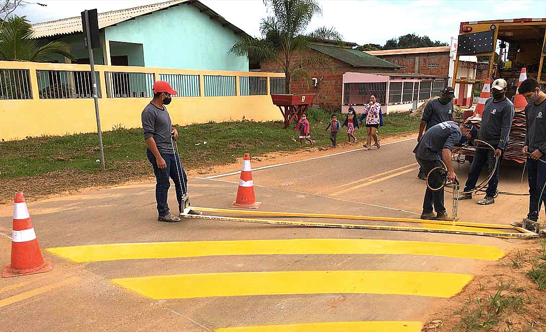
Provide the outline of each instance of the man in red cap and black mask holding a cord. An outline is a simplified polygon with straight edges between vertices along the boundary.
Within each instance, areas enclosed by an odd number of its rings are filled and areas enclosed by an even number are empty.
[[[178,132],[173,128],[169,112],[165,107],[170,104],[171,97],[177,93],[168,82],[157,81],[153,84],[153,99],[141,114],[144,139],[148,146],[146,154],[156,175],[156,201],[159,214],[157,220],[169,223],[180,222],[180,217],[171,214],[167,204],[169,177],[175,184],[176,199],[180,209],[182,200],[187,200],[188,194],[186,172],[173,145],[173,138],[178,138]],[[189,213],[198,212],[190,210]]]

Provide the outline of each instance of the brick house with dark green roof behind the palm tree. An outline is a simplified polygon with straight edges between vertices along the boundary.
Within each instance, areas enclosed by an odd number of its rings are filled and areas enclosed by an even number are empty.
[[[321,40],[313,43],[308,49],[309,55],[323,54],[328,56],[331,67],[305,68],[307,73],[316,83],[311,86],[304,79],[290,82],[290,91],[293,94],[316,94],[313,104],[328,109],[339,110],[342,104],[343,73],[394,73],[397,65],[382,60],[379,57],[369,55],[363,51],[353,49],[357,44],[348,42],[331,42]],[[303,55],[294,53],[290,61],[298,63]],[[275,61],[266,60],[260,63],[260,69],[264,72],[283,72],[283,69]]]

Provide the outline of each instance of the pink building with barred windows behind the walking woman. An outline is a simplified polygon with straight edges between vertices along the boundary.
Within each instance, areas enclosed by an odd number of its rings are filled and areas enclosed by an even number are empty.
[[[421,106],[431,96],[440,95],[447,80],[447,76],[423,74],[344,73],[341,111],[347,113],[351,104],[360,113],[373,94],[381,103],[383,114],[407,112]]]

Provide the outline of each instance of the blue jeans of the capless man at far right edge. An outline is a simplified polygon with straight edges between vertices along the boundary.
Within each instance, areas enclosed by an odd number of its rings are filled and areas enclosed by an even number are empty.
[[[542,160],[542,161],[541,161]],[[546,193],[542,194],[546,183],[546,156],[540,160],[527,158],[527,177],[529,179],[529,214],[527,219],[538,220],[538,212],[541,211],[542,203],[546,202]],[[546,191],[546,190],[544,190]],[[540,202],[538,200],[541,200]]]

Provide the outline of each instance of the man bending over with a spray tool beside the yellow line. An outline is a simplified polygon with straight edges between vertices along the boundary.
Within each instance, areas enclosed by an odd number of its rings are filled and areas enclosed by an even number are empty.
[[[471,136],[471,129],[471,125],[461,125],[459,127],[453,121],[445,121],[430,127],[413,149],[417,162],[423,168],[425,174],[429,174],[432,168],[443,168],[440,161],[440,154],[442,154],[447,168],[447,179],[450,182],[455,182],[457,176],[453,170],[451,153],[454,145],[461,142],[462,137],[465,137],[466,141],[472,139],[469,137]],[[430,173],[428,183],[432,188],[442,187],[444,183],[443,171],[439,169]],[[436,215],[434,210],[436,210]],[[453,216],[449,215],[446,207],[444,207],[443,188],[434,191],[426,187],[421,219],[453,221]]]

